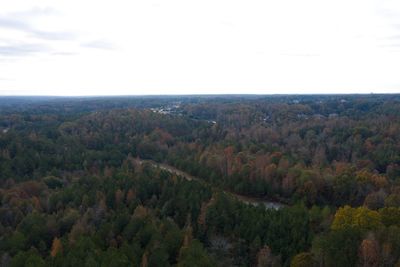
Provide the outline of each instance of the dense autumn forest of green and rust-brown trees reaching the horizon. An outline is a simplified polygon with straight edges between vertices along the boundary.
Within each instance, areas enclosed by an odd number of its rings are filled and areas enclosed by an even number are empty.
[[[400,266],[400,95],[1,97],[0,266]]]

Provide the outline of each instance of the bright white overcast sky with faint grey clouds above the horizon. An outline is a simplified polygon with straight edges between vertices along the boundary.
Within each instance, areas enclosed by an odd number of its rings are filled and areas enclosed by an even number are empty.
[[[0,2],[0,95],[312,93],[400,93],[400,1]]]

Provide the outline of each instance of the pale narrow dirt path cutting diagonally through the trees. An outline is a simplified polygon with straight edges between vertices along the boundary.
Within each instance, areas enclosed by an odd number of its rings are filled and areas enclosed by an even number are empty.
[[[152,160],[139,160],[140,164],[143,164],[145,162],[150,163],[152,166],[154,166],[156,168],[160,168],[160,169],[168,171],[170,173],[174,173],[176,175],[182,176],[185,179],[187,179],[188,181],[196,180],[201,183],[206,183],[204,180],[202,180],[198,177],[194,177],[194,176],[190,175],[189,173],[179,170],[171,165],[168,165],[165,163],[157,163]],[[239,195],[237,193],[229,192],[226,190],[223,190],[223,192],[227,195],[231,195],[231,196],[235,197],[239,201],[246,203],[246,204],[251,204],[251,205],[255,205],[255,206],[262,204],[265,206],[266,209],[276,209],[277,210],[277,209],[280,209],[285,206],[285,204],[280,203],[280,202],[268,201],[268,200],[260,199],[260,198],[247,197],[247,196]]]

